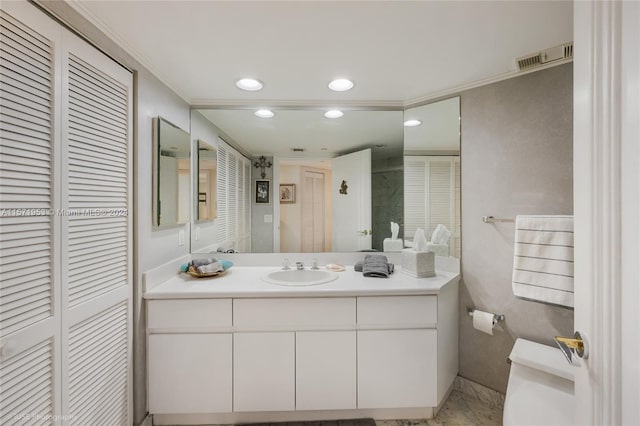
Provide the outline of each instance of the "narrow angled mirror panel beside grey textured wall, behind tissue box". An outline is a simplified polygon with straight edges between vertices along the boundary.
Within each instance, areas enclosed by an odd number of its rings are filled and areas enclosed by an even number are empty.
[[[437,255],[460,258],[460,97],[407,109],[404,118],[406,239],[422,228]]]

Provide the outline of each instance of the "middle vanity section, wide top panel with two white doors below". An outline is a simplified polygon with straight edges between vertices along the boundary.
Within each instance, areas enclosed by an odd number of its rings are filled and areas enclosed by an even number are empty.
[[[355,297],[235,299],[233,317],[234,411],[356,408]]]

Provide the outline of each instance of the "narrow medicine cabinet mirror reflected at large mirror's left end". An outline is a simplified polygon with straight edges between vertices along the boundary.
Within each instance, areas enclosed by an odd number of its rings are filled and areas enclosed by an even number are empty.
[[[216,218],[216,173],[218,154],[216,148],[203,140],[197,142],[197,182],[194,199],[197,202],[195,208],[196,222],[208,222]]]

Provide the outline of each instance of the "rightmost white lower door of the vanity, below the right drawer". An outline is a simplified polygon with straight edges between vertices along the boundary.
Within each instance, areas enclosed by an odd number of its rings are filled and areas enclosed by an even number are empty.
[[[358,331],[358,408],[435,407],[437,331]]]

